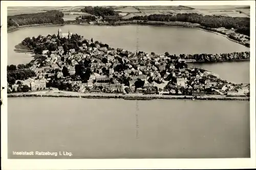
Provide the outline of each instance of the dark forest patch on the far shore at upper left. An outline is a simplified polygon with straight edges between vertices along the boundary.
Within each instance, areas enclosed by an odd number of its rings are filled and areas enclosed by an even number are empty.
[[[40,12],[34,14],[20,14],[7,16],[7,27],[18,27],[24,25],[43,23],[63,24],[63,16],[64,14],[57,10],[51,10],[47,12]]]

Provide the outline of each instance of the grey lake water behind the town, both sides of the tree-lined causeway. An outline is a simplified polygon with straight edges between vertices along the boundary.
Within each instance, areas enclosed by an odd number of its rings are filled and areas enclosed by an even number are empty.
[[[198,29],[180,27],[160,27],[160,26],[52,26],[33,27],[20,29],[8,33],[8,64],[28,63],[31,61],[30,55],[14,52],[14,46],[25,37],[37,37],[38,35],[56,34],[61,28],[63,33],[68,31],[84,36],[84,38],[94,41],[102,41],[112,47],[125,48],[129,51],[136,51],[138,37],[139,51],[155,52],[157,54],[197,54],[197,53],[230,53],[249,51],[245,47],[227,38]],[[249,82],[249,62],[238,64],[205,64],[205,69],[217,72],[221,78],[232,82]],[[219,70],[219,71],[218,71]]]

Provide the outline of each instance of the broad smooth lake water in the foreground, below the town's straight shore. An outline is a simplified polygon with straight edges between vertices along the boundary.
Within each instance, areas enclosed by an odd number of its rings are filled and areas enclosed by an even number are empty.
[[[70,158],[250,157],[249,120],[244,101],[9,98],[8,152],[10,158],[18,158],[12,151],[67,151]]]

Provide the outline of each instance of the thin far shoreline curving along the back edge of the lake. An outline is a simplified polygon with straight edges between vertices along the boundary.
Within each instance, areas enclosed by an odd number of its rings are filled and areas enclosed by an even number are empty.
[[[164,23],[164,24],[160,24],[160,23]],[[244,45],[246,46],[244,43],[240,42],[240,41],[237,41],[237,40],[233,40],[231,38],[229,38],[227,35],[224,35],[224,34],[221,34],[221,33],[218,33],[218,32],[215,32],[215,31],[210,31],[210,30],[207,30],[207,29],[204,29],[204,28],[201,28],[203,26],[195,26],[193,25],[193,23],[187,23],[187,22],[174,22],[174,23],[171,23],[170,25],[165,25],[165,22],[159,22],[159,24],[141,24],[141,23],[121,23],[121,25],[108,25],[108,24],[102,24],[102,25],[97,25],[97,24],[93,24],[93,25],[90,25],[89,23],[63,23],[63,24],[57,24],[57,25],[54,25],[52,23],[43,23],[43,24],[34,24],[34,25],[24,25],[24,26],[20,26],[16,29],[13,29],[13,30],[8,30],[7,28],[7,33],[10,33],[10,32],[14,32],[14,31],[17,31],[19,29],[24,29],[24,28],[29,28],[29,27],[50,27],[50,26],[65,26],[65,25],[78,25],[78,26],[129,26],[129,25],[139,25],[139,26],[165,26],[165,27],[183,27],[183,28],[195,28],[195,29],[199,29],[199,30],[202,30],[202,31],[207,31],[207,32],[211,32],[211,33],[215,33],[217,35],[220,35],[220,36],[223,36],[225,38],[227,38],[228,40],[230,41],[233,41],[233,42],[236,42],[236,43],[239,43],[241,45]],[[248,47],[248,46],[246,46]],[[250,47],[248,47],[250,48]]]

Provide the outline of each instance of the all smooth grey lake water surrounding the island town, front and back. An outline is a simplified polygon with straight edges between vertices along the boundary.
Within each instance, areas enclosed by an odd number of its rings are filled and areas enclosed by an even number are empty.
[[[137,37],[140,51],[159,54],[249,51],[197,29],[139,26],[136,34],[136,26],[71,25],[8,33],[8,64],[32,59],[13,51],[25,37],[57,34],[58,28],[129,51],[136,50]],[[194,65],[228,81],[249,82],[249,62]],[[249,157],[249,135],[249,102],[245,101],[8,99],[10,158],[15,158],[12,151],[67,151],[72,158]]]

